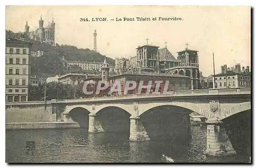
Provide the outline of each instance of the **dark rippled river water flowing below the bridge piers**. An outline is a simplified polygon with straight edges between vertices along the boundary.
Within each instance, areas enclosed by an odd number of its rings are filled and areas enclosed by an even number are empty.
[[[6,162],[248,162],[244,155],[206,157],[206,126],[191,126],[184,141],[158,139],[130,142],[129,133],[88,133],[84,129],[6,131]],[[35,149],[26,144],[34,141]],[[32,145],[33,146],[33,145]],[[31,147],[31,146],[30,146]]]

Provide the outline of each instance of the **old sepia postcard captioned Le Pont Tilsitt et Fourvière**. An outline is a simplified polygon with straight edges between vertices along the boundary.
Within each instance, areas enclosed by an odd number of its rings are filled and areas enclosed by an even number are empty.
[[[251,8],[6,6],[7,163],[251,162]]]

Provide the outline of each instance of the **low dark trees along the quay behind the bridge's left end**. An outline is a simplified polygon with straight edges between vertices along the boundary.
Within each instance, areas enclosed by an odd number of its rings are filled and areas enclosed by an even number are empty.
[[[60,82],[48,82],[44,85],[29,86],[29,101],[43,101],[52,99],[74,99],[84,96],[80,85],[71,86]]]

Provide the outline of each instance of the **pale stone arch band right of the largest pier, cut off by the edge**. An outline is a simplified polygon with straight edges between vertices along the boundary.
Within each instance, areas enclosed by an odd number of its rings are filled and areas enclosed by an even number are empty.
[[[227,117],[230,117],[232,115],[241,113],[242,111],[250,110],[251,109],[251,102],[243,102],[236,104],[232,107],[229,107],[222,111],[220,120],[223,120]]]

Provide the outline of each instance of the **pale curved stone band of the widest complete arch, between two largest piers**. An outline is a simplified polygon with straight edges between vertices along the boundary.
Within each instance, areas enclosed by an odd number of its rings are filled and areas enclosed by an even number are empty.
[[[203,106],[200,106],[199,104],[194,104],[194,103],[189,103],[189,102],[185,102],[185,103],[184,102],[152,103],[151,105],[139,104],[139,116],[152,108],[159,107],[159,106],[166,106],[166,105],[183,107],[183,108],[195,111],[196,113],[204,116],[207,119],[211,118],[211,114],[208,109],[206,109]]]

